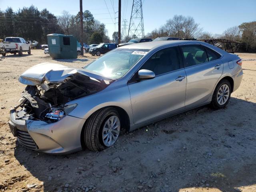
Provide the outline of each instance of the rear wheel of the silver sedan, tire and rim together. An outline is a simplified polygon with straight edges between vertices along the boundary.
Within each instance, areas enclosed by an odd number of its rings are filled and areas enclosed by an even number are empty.
[[[226,79],[221,80],[216,86],[212,96],[212,108],[223,109],[230,100],[231,91],[232,88],[230,82]]]

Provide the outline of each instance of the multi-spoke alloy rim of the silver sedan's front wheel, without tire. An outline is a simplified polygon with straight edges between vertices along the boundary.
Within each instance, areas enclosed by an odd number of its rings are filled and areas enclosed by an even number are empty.
[[[102,130],[102,140],[105,146],[110,147],[112,146],[120,133],[120,120],[117,116],[110,116]]]

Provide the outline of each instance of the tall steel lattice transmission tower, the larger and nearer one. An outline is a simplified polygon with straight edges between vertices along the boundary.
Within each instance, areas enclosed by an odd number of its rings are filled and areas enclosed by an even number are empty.
[[[132,4],[132,14],[128,30],[128,36],[131,35],[132,38],[134,38],[135,36],[138,38],[144,37],[144,24],[141,1],[142,0],[133,0]]]

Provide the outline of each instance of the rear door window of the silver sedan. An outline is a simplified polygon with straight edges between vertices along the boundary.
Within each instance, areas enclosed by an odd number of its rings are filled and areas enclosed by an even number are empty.
[[[185,59],[185,67],[208,62],[205,49],[199,45],[180,46]]]

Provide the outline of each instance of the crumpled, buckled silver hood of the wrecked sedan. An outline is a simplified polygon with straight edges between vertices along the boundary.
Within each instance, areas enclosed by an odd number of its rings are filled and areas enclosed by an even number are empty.
[[[40,85],[44,81],[56,83],[62,82],[68,76],[80,73],[97,80],[112,80],[110,78],[94,74],[83,68],[72,68],[56,63],[41,63],[26,70],[19,78],[19,82],[26,85]]]

